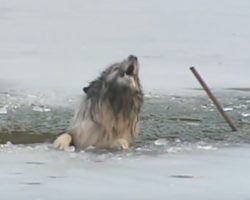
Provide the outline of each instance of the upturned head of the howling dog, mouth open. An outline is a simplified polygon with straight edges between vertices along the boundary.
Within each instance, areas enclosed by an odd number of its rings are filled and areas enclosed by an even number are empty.
[[[115,63],[102,72],[101,76],[91,82],[88,87],[84,87],[83,91],[89,96],[100,91],[100,87],[114,90],[117,92],[141,90],[139,79],[139,63],[134,55],[130,55],[127,59],[120,63]]]

